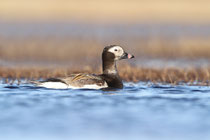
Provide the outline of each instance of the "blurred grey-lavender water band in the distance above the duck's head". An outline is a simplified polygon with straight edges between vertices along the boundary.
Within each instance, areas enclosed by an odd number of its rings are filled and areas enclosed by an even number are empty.
[[[207,24],[176,24],[176,23],[113,23],[90,24],[76,21],[60,22],[11,22],[0,20],[0,36],[2,37],[94,37],[102,42],[115,39],[133,39],[145,37],[210,37],[210,25]]]

